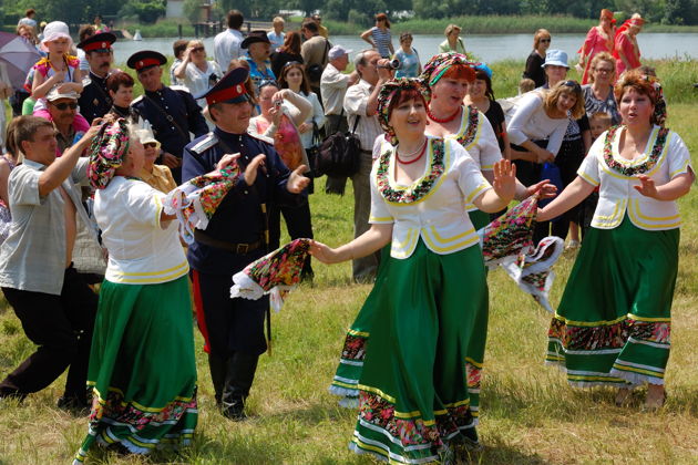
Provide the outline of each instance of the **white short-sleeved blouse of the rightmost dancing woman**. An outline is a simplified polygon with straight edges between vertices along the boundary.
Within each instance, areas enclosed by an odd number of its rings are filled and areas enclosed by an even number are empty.
[[[667,184],[676,176],[692,173],[690,154],[681,137],[673,131],[666,136],[664,146],[657,145],[659,126],[651,131],[643,156],[633,161],[623,158],[618,153],[618,142],[624,126],[615,133],[610,141],[612,159],[605,159],[604,146],[608,132],[602,134],[577,172],[587,183],[599,186],[598,206],[594,211],[592,226],[599,229],[613,229],[620,225],[627,210],[633,225],[646,230],[675,229],[681,225],[681,217],[676,202],[656,200],[638,193],[633,186],[639,186],[636,174],[628,170],[637,168],[650,159],[653,151],[658,158],[653,167],[641,173],[653,178],[657,186]],[[626,174],[613,168],[617,165]]]

